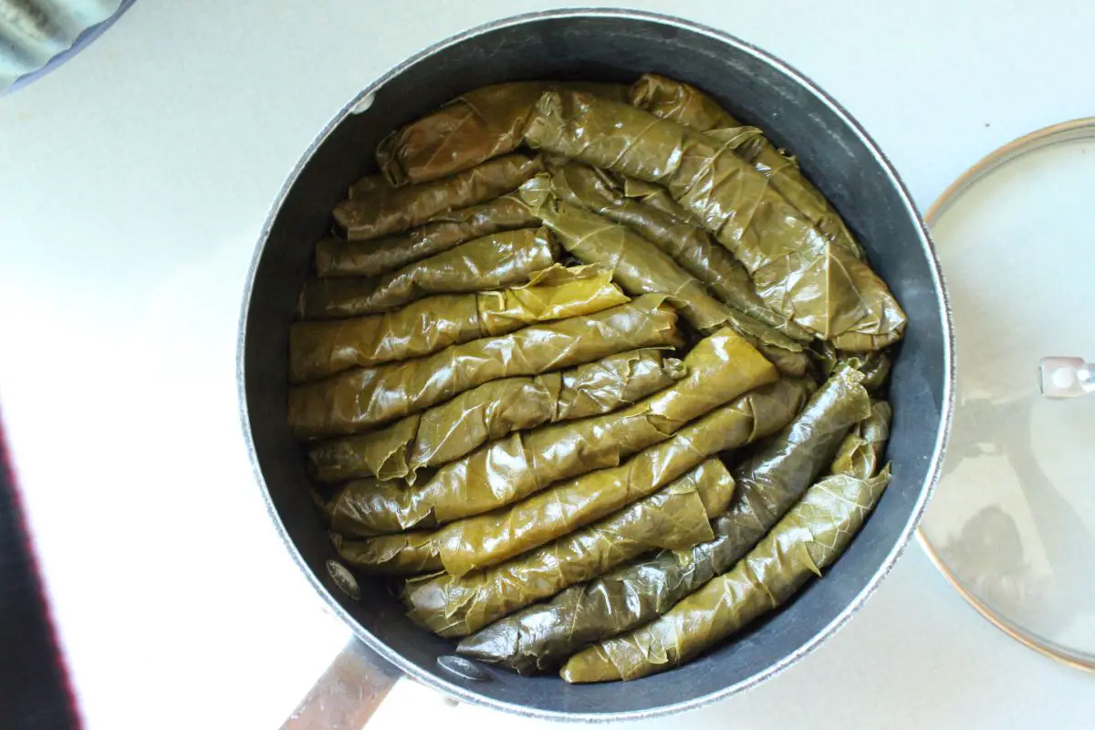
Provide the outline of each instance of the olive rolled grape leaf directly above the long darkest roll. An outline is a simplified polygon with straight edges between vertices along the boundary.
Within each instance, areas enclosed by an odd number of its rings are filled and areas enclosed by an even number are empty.
[[[708,460],[657,494],[510,563],[460,578],[407,581],[408,615],[441,636],[465,636],[647,551],[710,540],[710,518],[733,495],[726,467]]]

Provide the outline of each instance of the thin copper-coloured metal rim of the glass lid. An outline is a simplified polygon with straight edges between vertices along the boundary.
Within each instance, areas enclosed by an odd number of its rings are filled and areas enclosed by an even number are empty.
[[[924,215],[924,222],[931,227],[973,185],[1012,160],[1035,150],[1085,138],[1095,139],[1095,117],[1083,117],[1071,121],[1062,121],[1061,124],[1038,129],[1037,131],[1033,131],[1007,142],[1003,147],[1000,147],[987,154],[973,166],[963,173],[958,179],[952,183],[950,186],[935,199],[932,207],[927,209],[927,212]],[[1046,639],[1039,638],[1034,634],[1019,628],[989,607],[989,605],[987,605],[979,598],[973,595],[973,593],[958,580],[958,577],[955,576],[943,561],[943,558],[935,551],[931,540],[929,540],[927,534],[924,532],[923,524],[917,529],[917,541],[924,549],[924,553],[927,554],[927,558],[932,561],[932,565],[935,566],[947,582],[950,583],[958,594],[961,595],[961,598],[964,598],[966,602],[969,603],[979,614],[984,616],[984,618],[987,618],[993,626],[1019,644],[1029,649],[1034,649],[1042,656],[1049,657],[1050,659],[1054,659],[1075,669],[1095,672],[1095,657],[1079,654],[1070,651],[1064,647],[1047,641]]]

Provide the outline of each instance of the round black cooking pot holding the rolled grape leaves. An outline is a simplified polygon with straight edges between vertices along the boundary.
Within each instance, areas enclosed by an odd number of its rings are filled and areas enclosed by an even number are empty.
[[[826,577],[731,644],[633,683],[572,686],[554,675],[522,677],[454,657],[450,641],[412,625],[379,582],[358,586],[336,563],[287,426],[287,336],[312,244],[328,231],[331,209],[347,185],[373,172],[372,150],[393,128],[485,84],[631,82],[646,71],[700,86],[792,150],[904,306],[908,335],[890,390],[894,480]],[[771,56],[711,28],[632,11],[499,21],[429,48],[362,91],[320,134],[274,205],[251,268],[239,354],[243,426],[270,513],[309,580],[354,634],[406,674],[460,699],[586,720],[649,717],[740,692],[843,624],[889,571],[924,510],[946,438],[952,376],[950,325],[931,241],[897,173],[863,129]]]

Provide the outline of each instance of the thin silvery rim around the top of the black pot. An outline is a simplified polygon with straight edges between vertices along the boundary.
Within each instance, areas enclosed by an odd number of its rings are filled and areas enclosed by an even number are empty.
[[[388,645],[380,641],[376,636],[368,631],[364,626],[361,626],[353,616],[345,611],[342,605],[334,599],[334,596],[324,586],[319,576],[315,575],[309,568],[308,564],[304,561],[300,552],[297,549],[296,544],[290,537],[285,524],[281,522],[277,510],[274,507],[274,502],[270,499],[269,490],[266,487],[266,480],[263,476],[261,466],[258,464],[258,456],[255,450],[254,438],[251,432],[251,421],[250,414],[247,410],[246,402],[246,387],[245,387],[245,366],[244,366],[244,351],[245,351],[245,333],[247,314],[251,304],[252,291],[254,288],[255,274],[258,268],[258,263],[262,259],[263,251],[265,250],[267,239],[269,237],[270,229],[273,228],[274,221],[277,218],[278,212],[281,210],[281,206],[285,204],[285,199],[289,194],[289,190],[296,184],[297,178],[300,176],[307,162],[312,158],[319,147],[327,139],[327,137],[350,115],[361,111],[361,107],[368,108],[367,100],[370,95],[374,94],[378,90],[384,86],[384,84],[392,81],[394,78],[403,73],[407,68],[445,50],[449,47],[463,43],[475,36],[483,35],[485,33],[491,33],[505,27],[510,27],[515,25],[522,25],[527,23],[533,23],[542,20],[557,20],[557,19],[583,19],[583,18],[618,18],[623,20],[637,20],[637,21],[648,21],[654,23],[659,23],[661,25],[685,30],[700,35],[708,36],[715,40],[718,40],[727,46],[731,46],[741,50],[761,62],[768,63],[782,73],[786,74],[793,79],[796,83],[809,90],[814,95],[816,95],[826,106],[828,106],[842,121],[844,121],[860,138],[864,146],[871,151],[871,154],[878,161],[881,167],[886,171],[890,178],[890,183],[897,189],[902,202],[904,204],[907,212],[910,215],[912,220],[917,223],[919,231],[919,237],[921,245],[924,248],[924,254],[927,259],[929,269],[932,276],[932,283],[936,287],[940,292],[940,303],[941,312],[943,315],[942,333],[943,333],[943,345],[944,345],[944,387],[943,387],[943,403],[941,405],[941,422],[940,430],[936,434],[935,447],[933,449],[931,463],[929,464],[929,476],[925,478],[923,487],[921,489],[920,496],[914,505],[914,509],[909,517],[908,522],[902,529],[900,535],[898,535],[894,547],[890,549],[889,554],[883,560],[881,566],[878,571],[871,578],[867,584],[862,591],[848,604],[848,606],[842,610],[835,618],[833,618],[829,624],[822,627],[812,638],[810,638],[806,644],[800,646],[795,651],[788,653],[779,662],[775,662],[764,670],[757,672],[752,676],[749,676],[740,682],[731,685],[727,685],[722,690],[708,693],[699,697],[693,697],[679,703],[673,703],[670,705],[662,705],[660,707],[652,707],[642,710],[627,710],[627,711],[616,711],[616,712],[565,712],[556,710],[545,710],[535,707],[529,707],[527,705],[515,704],[509,702],[502,702],[494,699],[486,695],[481,695],[475,692],[471,692],[458,684],[448,682],[436,674],[431,674],[424,671],[418,664],[406,660],[399,651],[392,649]],[[780,60],[775,56],[761,50],[760,48],[746,43],[728,33],[718,31],[716,28],[703,25],[701,23],[695,23],[673,15],[667,15],[662,13],[654,13],[639,10],[627,10],[627,9],[608,9],[608,8],[570,8],[562,10],[548,10],[530,13],[521,13],[518,15],[511,15],[497,21],[492,21],[484,23],[466,30],[462,33],[452,35],[439,43],[433,44],[426,47],[424,50],[411,56],[404,61],[392,67],[389,71],[381,74],[376,81],[368,84],[362,89],[353,100],[349,101],[343,108],[326,124],[323,130],[312,140],[308,149],[301,155],[300,160],[293,166],[292,171],[289,173],[286,182],[283,184],[280,192],[278,193],[270,211],[263,223],[262,231],[260,233],[257,246],[255,247],[255,253],[252,257],[251,265],[247,270],[247,278],[244,286],[243,292],[243,304],[240,313],[240,325],[239,334],[237,339],[237,392],[239,397],[239,409],[240,419],[243,427],[243,434],[247,444],[247,455],[251,459],[252,472],[255,475],[255,479],[262,489],[263,500],[266,503],[266,511],[273,520],[274,524],[278,530],[278,534],[281,542],[285,543],[289,553],[292,555],[297,567],[304,573],[308,581],[311,583],[312,588],[319,592],[327,607],[336,615],[338,618],[346,624],[351,631],[365,642],[370,649],[379,653],[385,660],[394,664],[408,676],[413,677],[417,682],[425,684],[426,686],[433,687],[442,694],[453,697],[460,702],[466,702],[475,705],[486,706],[494,709],[504,710],[507,712],[512,712],[523,717],[532,717],[548,720],[556,721],[572,721],[572,722],[607,722],[607,721],[618,721],[618,720],[637,720],[637,719],[653,719],[657,717],[664,717],[672,715],[676,712],[682,712],[684,710],[696,709],[705,705],[710,705],[716,700],[729,697],[731,695],[738,694],[745,690],[751,688],[777,674],[783,672],[785,669],[797,662],[799,659],[810,653],[822,641],[831,637],[839,628],[841,628],[853,614],[855,614],[871,596],[872,593],[877,589],[881,580],[889,575],[897,559],[904,552],[906,547],[909,545],[913,534],[917,532],[917,528],[920,521],[923,519],[924,510],[927,507],[927,502],[935,490],[935,486],[938,482],[942,465],[943,465],[943,453],[946,449],[947,439],[950,434],[950,421],[954,406],[954,332],[953,332],[953,316],[950,310],[950,301],[947,296],[946,282],[944,281],[943,274],[940,269],[938,258],[935,254],[935,247],[932,243],[931,236],[927,231],[927,227],[924,223],[923,218],[917,210],[915,205],[909,195],[908,188],[906,188],[904,183],[901,181],[900,175],[890,164],[889,159],[883,153],[878,146],[874,142],[871,136],[865,129],[841,106],[835,100],[829,96],[825,91],[822,91],[817,84],[815,84],[809,78],[800,73],[786,62]]]

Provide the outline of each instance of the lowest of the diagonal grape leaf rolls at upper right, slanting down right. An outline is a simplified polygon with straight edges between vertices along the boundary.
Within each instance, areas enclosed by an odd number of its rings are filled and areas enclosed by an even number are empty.
[[[546,176],[534,177],[521,186],[520,195],[576,258],[611,269],[613,278],[629,293],[666,294],[700,332],[713,332],[724,325],[734,327],[780,372],[806,373],[809,356],[802,345],[716,300],[671,256],[629,227],[560,200],[550,187]]]

